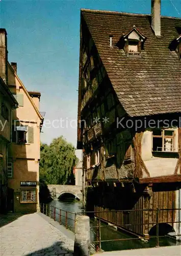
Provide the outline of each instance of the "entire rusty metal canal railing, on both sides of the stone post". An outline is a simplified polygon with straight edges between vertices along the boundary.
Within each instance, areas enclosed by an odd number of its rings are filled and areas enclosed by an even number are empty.
[[[169,214],[169,211],[176,211],[178,210],[178,220],[179,221],[166,221],[166,222],[162,222],[160,221],[160,215],[161,212],[163,211],[167,211],[167,213]],[[101,251],[101,244],[102,243],[106,243],[106,242],[121,242],[121,241],[135,241],[135,240],[140,240],[140,239],[145,239],[145,240],[149,240],[149,239],[155,239],[155,246],[159,247],[160,246],[160,238],[165,238],[168,237],[167,234],[165,235],[160,235],[160,224],[170,224],[170,226],[172,227],[173,224],[178,224],[179,227],[181,227],[181,215],[180,215],[180,210],[181,208],[176,208],[176,209],[133,209],[133,210],[110,210],[110,211],[83,211],[83,212],[71,212],[71,211],[66,211],[48,204],[40,204],[40,211],[45,214],[46,216],[50,217],[51,219],[54,219],[54,221],[58,221],[60,223],[60,225],[65,226],[65,228],[70,229],[71,231],[75,231],[75,219],[77,215],[92,215],[94,216],[94,218],[96,219],[96,224],[94,226],[90,226],[90,232],[93,234],[94,239],[91,240],[91,245],[92,247],[95,249],[96,252]],[[155,218],[153,218],[153,220],[155,219],[155,221],[152,222],[140,222],[140,223],[119,223],[118,224],[114,224],[111,223],[110,221],[105,220],[104,218],[102,218],[101,214],[114,214],[116,213],[116,216],[118,216],[119,214],[127,214],[127,213],[131,213],[131,212],[153,212],[155,214]],[[143,219],[143,218],[142,218]],[[101,223],[104,222],[106,224],[111,224],[111,225],[102,225]],[[117,223],[117,221],[115,220],[115,223]],[[144,237],[144,235],[135,233],[134,231],[132,231],[130,229],[130,227],[133,226],[147,226],[148,229],[149,227],[153,227],[156,226],[156,232],[153,235],[149,235],[149,237]],[[102,239],[102,231],[104,230],[104,228],[111,228],[111,227],[116,227],[118,229],[120,229],[123,232],[127,232],[128,234],[130,234],[130,236],[132,236],[131,238],[121,238],[121,239],[107,239],[104,240]],[[179,228],[178,228],[179,230]],[[104,231],[103,231],[104,232]],[[181,234],[174,234],[173,237],[180,237]],[[171,236],[169,236],[171,237]],[[121,249],[121,248],[120,248]]]

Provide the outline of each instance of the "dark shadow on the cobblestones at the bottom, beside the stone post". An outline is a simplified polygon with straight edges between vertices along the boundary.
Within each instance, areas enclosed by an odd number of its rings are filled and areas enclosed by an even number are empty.
[[[43,248],[41,250],[25,254],[25,256],[30,256],[30,255],[31,256],[34,256],[34,255],[36,255],[36,256],[37,255],[54,255],[54,254],[55,255],[66,255],[65,253],[72,253],[72,255],[73,255],[73,251],[66,248],[64,243],[60,241],[60,242],[54,243],[53,245],[51,245],[49,247]],[[67,254],[67,255],[71,255],[71,254]]]

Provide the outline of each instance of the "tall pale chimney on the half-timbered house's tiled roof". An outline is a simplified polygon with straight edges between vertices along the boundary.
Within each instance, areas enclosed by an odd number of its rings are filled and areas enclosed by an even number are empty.
[[[161,36],[161,0],[151,0],[151,27],[156,36]]]

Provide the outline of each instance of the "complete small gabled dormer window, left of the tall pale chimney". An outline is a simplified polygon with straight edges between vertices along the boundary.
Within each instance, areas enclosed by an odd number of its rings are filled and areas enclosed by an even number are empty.
[[[141,34],[141,32],[135,26],[133,26],[133,29],[124,35],[122,40],[124,41],[123,49],[128,55],[139,55],[143,49],[143,44],[146,37]]]

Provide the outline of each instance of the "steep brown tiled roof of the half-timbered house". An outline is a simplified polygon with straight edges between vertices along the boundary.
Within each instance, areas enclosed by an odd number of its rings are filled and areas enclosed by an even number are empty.
[[[130,116],[181,112],[181,60],[168,49],[178,38],[181,19],[161,17],[161,37],[151,16],[81,10],[113,88]],[[133,26],[147,37],[141,57],[126,57],[116,44]],[[110,48],[110,35],[113,47]]]

